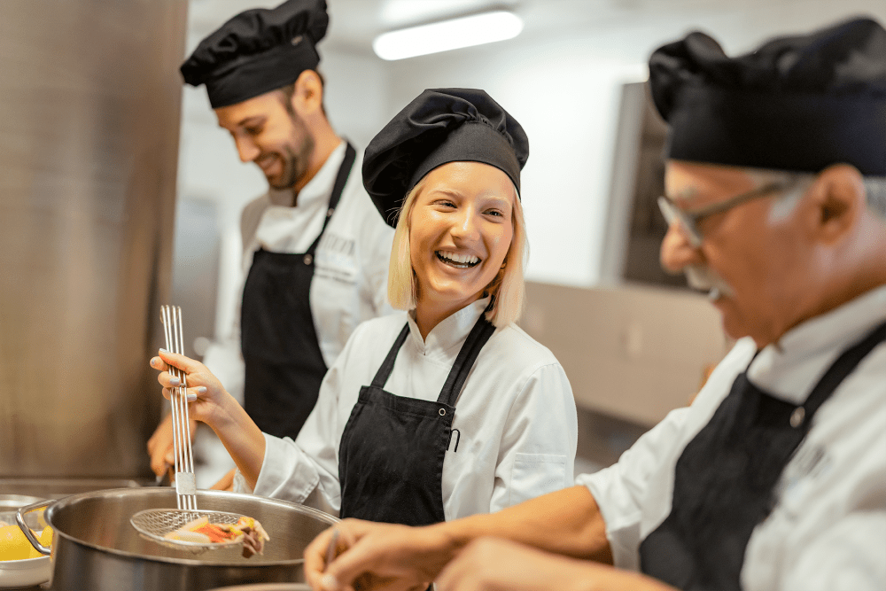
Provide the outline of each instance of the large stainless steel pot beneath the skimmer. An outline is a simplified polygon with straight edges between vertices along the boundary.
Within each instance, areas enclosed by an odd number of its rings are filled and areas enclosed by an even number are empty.
[[[175,507],[175,489],[167,487],[74,494],[19,509],[18,517],[46,507],[43,516],[55,530],[53,591],[203,591],[243,583],[303,582],[304,549],[338,522],[316,509],[252,494],[198,491],[197,504],[258,519],[270,536],[264,555],[244,558],[237,549],[223,549],[193,556],[140,536],[129,517],[142,509]],[[25,534],[35,548],[50,553],[30,530]]]

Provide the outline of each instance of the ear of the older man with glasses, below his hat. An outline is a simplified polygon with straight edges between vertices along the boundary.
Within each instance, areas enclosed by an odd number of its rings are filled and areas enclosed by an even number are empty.
[[[845,237],[867,206],[861,173],[848,164],[835,164],[821,171],[806,198],[811,206],[810,229],[825,245]]]

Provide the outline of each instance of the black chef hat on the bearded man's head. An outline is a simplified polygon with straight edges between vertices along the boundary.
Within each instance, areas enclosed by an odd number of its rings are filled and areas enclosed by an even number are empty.
[[[320,63],[325,0],[288,0],[240,12],[200,42],[182,64],[184,82],[206,84],[213,108],[235,105],[291,84]]]

